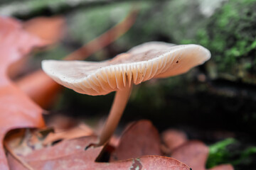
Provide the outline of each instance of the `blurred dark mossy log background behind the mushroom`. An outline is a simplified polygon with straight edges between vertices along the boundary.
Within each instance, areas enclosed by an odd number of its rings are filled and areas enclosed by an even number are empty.
[[[255,169],[255,0],[1,0],[0,15],[24,22],[44,16],[60,26],[53,35],[61,33],[61,38],[36,52],[21,75],[39,69],[41,60],[61,60],[95,38],[95,52],[90,52],[92,45],[80,52],[86,60],[107,60],[149,41],[208,48],[212,57],[206,64],[134,86],[117,131],[132,120],[149,119],[159,132],[176,128],[208,145],[220,142],[209,166],[231,163],[235,169]],[[39,26],[35,31],[51,30]],[[104,33],[107,38],[100,39]],[[48,110],[93,125],[106,118],[113,98],[114,93],[87,96],[63,89]]]

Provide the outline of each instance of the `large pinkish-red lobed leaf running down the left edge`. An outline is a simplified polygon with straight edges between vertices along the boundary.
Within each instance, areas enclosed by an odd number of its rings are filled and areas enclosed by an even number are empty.
[[[42,127],[42,110],[18,89],[6,75],[9,66],[17,62],[41,40],[26,33],[21,23],[0,17],[0,169],[9,169],[2,141],[11,129]]]

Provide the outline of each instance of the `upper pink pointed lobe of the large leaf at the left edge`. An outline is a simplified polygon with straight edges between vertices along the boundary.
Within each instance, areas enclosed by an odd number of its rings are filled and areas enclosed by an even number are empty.
[[[22,29],[21,23],[14,18],[0,16],[0,26],[0,77],[7,79],[7,73],[12,77],[16,74],[18,70],[18,64],[16,63],[21,62],[33,46],[42,45],[43,42],[39,38],[26,33]],[[0,84],[5,82],[6,80],[1,80]]]

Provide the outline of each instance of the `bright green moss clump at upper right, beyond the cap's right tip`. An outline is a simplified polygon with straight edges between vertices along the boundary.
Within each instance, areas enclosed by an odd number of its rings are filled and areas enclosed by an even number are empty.
[[[183,42],[207,47],[218,73],[231,74],[238,79],[251,77],[249,75],[256,71],[255,8],[255,0],[230,0],[198,30],[195,40]],[[240,72],[244,72],[245,77],[240,77]]]

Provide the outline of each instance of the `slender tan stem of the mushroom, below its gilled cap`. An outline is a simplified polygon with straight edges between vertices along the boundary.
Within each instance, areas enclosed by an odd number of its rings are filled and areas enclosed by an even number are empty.
[[[132,91],[132,85],[127,85],[124,89],[116,92],[114,101],[110,110],[110,115],[107,117],[105,126],[100,135],[100,142],[97,146],[104,145],[113,135],[114,130],[117,128],[119,120],[124,112],[125,106]]]

